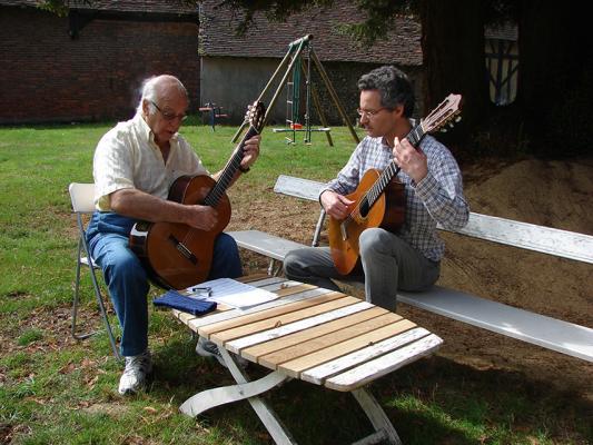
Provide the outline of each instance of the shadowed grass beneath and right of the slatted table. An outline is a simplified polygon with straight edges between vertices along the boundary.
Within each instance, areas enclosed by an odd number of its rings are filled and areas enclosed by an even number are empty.
[[[196,356],[194,345],[179,340],[159,350],[152,396],[174,397],[171,403],[180,405],[201,390],[234,384],[216,360]],[[267,373],[257,365],[248,368],[251,379]],[[580,421],[593,412],[586,399],[514,372],[481,370],[433,356],[378,379],[370,389],[405,444],[592,439],[591,427]],[[298,443],[350,443],[373,431],[349,394],[291,380],[265,399]],[[246,402],[214,408],[198,422],[230,429],[233,436],[241,431],[249,443],[273,442]]]

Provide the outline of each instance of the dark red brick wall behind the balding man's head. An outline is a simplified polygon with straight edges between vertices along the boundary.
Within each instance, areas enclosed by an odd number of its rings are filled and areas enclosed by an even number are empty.
[[[127,119],[141,80],[164,72],[199,106],[195,23],[95,20],[71,40],[68,18],[0,9],[0,123]]]

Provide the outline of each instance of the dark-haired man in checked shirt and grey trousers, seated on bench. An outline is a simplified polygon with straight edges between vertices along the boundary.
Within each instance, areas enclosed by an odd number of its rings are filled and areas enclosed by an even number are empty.
[[[364,275],[355,268],[348,279],[365,283],[366,299],[395,310],[397,289],[422,290],[439,275],[445,246],[436,225],[461,228],[470,210],[463,196],[462,175],[451,151],[432,136],[418,149],[405,137],[413,127],[414,92],[407,77],[395,67],[380,67],[358,80],[360,126],[367,136],[356,147],[348,164],[320,192],[327,214],[343,220],[350,211],[349,195],[365,172],[384,170],[395,161],[402,170],[406,217],[397,233],[367,228],[358,238]],[[284,261],[288,278],[319,287],[338,289],[332,278],[336,269],[327,247],[309,247],[288,253]]]

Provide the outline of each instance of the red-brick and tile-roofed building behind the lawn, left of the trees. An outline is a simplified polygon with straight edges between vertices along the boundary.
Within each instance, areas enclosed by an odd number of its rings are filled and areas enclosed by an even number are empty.
[[[237,123],[288,43],[309,33],[353,121],[356,80],[379,65],[401,67],[416,91],[422,89],[419,24],[397,19],[387,40],[357,46],[336,31],[339,23],[358,21],[348,0],[295,14],[286,23],[269,23],[256,13],[240,37],[235,32],[240,18],[218,7],[219,0],[204,0],[199,8],[180,0],[70,0],[65,17],[39,3],[0,0],[0,125],[127,119],[141,80],[162,72],[186,85],[190,112],[216,102],[230,115],[227,122]],[[342,123],[315,71],[313,82],[330,123]],[[286,118],[285,101],[283,91],[273,116],[277,122]]]

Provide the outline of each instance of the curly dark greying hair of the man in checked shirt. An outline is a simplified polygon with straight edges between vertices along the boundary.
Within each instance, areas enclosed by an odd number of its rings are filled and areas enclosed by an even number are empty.
[[[363,75],[358,79],[358,89],[377,90],[380,95],[380,106],[394,109],[404,106],[404,116],[409,118],[414,112],[414,89],[407,76],[393,66],[384,66]]]

